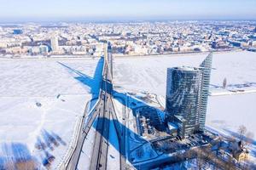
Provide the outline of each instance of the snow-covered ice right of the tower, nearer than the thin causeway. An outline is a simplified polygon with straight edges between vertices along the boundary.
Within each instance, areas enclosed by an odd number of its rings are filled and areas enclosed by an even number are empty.
[[[234,94],[209,98],[207,125],[222,133],[237,133],[244,125],[256,135],[255,119],[256,94]],[[238,135],[237,135],[238,136]]]

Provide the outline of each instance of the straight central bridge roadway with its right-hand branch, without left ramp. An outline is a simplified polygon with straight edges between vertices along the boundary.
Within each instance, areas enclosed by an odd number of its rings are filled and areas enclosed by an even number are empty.
[[[108,137],[110,116],[113,118],[113,124],[117,130],[119,140],[119,169],[125,169],[125,126],[120,125],[113,106],[113,59],[111,48],[105,52],[105,65],[103,71],[102,95],[104,101],[102,111],[98,118],[96,127],[96,139],[94,144],[93,156],[90,161],[90,169],[107,169],[108,162]],[[113,132],[114,133],[114,132]]]

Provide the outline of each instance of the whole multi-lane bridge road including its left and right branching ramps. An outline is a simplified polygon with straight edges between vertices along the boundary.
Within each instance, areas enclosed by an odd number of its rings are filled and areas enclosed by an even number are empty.
[[[83,148],[84,139],[86,139],[87,134],[90,131],[90,128],[93,122],[97,121],[96,125],[96,136],[93,146],[93,155],[90,160],[90,169],[107,169],[108,162],[108,137],[109,137],[109,124],[111,117],[113,118],[114,127],[117,130],[117,136],[119,140],[119,169],[125,169],[125,126],[121,127],[118,118],[116,116],[114,106],[113,106],[113,83],[112,83],[112,54],[111,51],[106,48],[104,54],[104,67],[102,72],[102,88],[99,94],[98,101],[94,107],[92,116],[88,118],[88,121],[85,124],[85,116],[87,115],[84,111],[84,116],[82,124],[79,129],[79,137],[76,143],[75,148],[73,149],[72,156],[67,162],[65,169],[73,170],[77,168],[79,162],[79,156]],[[108,51],[109,50],[109,51]],[[114,133],[114,132],[113,132]],[[81,160],[82,161],[82,160]]]

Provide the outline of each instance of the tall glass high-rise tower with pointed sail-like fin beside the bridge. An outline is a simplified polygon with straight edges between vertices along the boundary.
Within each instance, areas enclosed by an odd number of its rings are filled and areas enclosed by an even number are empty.
[[[209,54],[198,68],[167,70],[167,121],[177,124],[177,134],[182,138],[204,130],[211,69],[212,54]]]

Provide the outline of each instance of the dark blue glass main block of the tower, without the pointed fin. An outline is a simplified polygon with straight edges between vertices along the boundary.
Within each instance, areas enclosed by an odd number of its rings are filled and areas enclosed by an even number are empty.
[[[201,103],[201,70],[174,67],[167,70],[166,111],[185,121],[184,136],[198,131]]]

